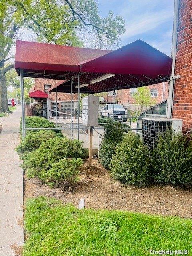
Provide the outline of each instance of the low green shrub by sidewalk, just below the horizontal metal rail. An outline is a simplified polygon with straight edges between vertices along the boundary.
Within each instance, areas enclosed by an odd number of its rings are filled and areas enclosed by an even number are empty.
[[[50,138],[56,138],[62,136],[62,134],[57,134],[52,130],[38,130],[37,132],[29,132],[24,141],[21,141],[20,145],[16,147],[16,152],[20,156],[24,156],[36,148],[39,148],[42,142],[46,142]]]

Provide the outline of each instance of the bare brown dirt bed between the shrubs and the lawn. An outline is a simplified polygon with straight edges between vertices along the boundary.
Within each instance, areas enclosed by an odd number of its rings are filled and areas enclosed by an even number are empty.
[[[80,172],[80,180],[72,189],[50,188],[38,179],[25,179],[24,198],[37,196],[55,197],[64,203],[78,207],[80,198],[85,198],[86,208],[119,209],[148,214],[172,215],[192,218],[192,190],[177,186],[148,186],[137,188],[125,186],[93,160]]]

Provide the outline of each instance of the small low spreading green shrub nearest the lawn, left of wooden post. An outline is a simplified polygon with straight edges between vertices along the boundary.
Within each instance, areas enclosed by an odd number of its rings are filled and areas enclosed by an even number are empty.
[[[83,161],[80,158],[60,159],[49,170],[43,169],[40,172],[39,178],[50,186],[74,184],[78,180],[79,167],[82,163]]]

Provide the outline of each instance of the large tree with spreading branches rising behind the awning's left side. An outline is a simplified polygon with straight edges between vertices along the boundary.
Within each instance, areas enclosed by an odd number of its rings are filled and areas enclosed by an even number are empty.
[[[29,30],[39,42],[83,46],[91,35],[98,46],[116,42],[124,29],[124,20],[101,18],[95,0],[1,0],[0,2],[0,112],[8,111],[6,72],[14,64],[10,50],[22,31]]]

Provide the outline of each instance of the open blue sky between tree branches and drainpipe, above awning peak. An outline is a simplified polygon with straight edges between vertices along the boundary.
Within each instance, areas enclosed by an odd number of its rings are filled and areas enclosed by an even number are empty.
[[[118,46],[142,39],[171,54],[174,0],[97,0],[101,16],[109,10],[125,20],[125,34]]]

